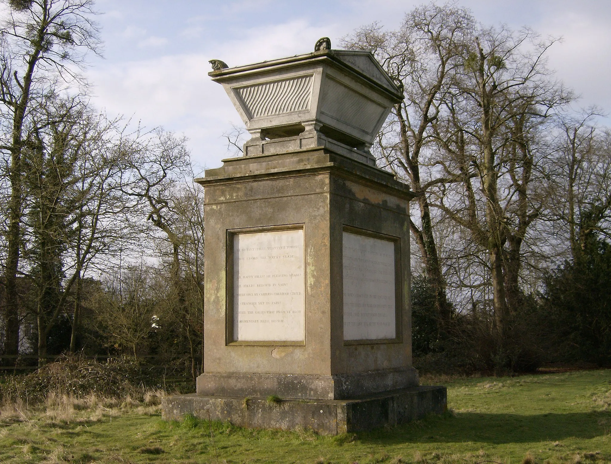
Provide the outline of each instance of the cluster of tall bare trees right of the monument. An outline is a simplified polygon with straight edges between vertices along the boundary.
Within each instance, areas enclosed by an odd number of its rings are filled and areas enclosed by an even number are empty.
[[[575,95],[546,65],[555,42],[479,24],[455,3],[342,42],[375,54],[403,88],[374,148],[417,195],[410,228],[439,327],[485,311],[497,359],[545,270],[584,242],[580,211],[609,231],[608,136],[594,111],[574,116]]]

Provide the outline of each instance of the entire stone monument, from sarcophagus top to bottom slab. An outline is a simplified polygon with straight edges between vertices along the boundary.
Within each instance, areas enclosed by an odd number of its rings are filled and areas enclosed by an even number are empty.
[[[369,148],[403,94],[368,52],[228,68],[251,139],[205,189],[204,373],[164,399],[238,426],[343,433],[446,407],[412,368],[409,186]]]

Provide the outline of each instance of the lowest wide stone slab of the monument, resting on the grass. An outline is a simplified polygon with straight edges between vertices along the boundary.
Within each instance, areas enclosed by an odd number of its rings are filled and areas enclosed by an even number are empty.
[[[429,413],[447,410],[445,386],[415,386],[350,400],[281,399],[263,397],[166,396],[163,418],[186,414],[200,419],[229,421],[239,427],[291,430],[305,427],[322,435],[357,432],[386,424],[403,424]]]

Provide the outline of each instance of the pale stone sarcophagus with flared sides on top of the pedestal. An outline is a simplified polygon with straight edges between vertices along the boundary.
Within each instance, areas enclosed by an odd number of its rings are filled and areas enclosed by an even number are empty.
[[[375,165],[369,148],[403,95],[371,53],[328,47],[210,73],[251,133],[245,155],[327,147]]]

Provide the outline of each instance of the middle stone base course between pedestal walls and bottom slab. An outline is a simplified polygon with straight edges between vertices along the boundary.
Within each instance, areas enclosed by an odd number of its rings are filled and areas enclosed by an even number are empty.
[[[411,367],[333,375],[204,372],[197,377],[196,391],[203,396],[349,399],[419,383],[418,372]]]

